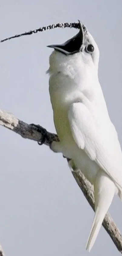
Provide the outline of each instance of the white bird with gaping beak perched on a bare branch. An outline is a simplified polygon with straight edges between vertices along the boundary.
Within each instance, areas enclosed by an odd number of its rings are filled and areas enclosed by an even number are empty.
[[[54,152],[70,158],[94,185],[95,215],[86,249],[93,247],[105,214],[122,200],[122,151],[98,79],[99,49],[86,27],[54,48],[49,58],[49,92],[60,142]]]

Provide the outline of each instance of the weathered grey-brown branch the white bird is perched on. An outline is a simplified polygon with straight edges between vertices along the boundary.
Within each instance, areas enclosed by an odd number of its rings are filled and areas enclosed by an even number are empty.
[[[18,118],[14,117],[13,114],[7,113],[0,110],[0,125],[5,126],[6,128],[12,130],[13,132],[18,133],[25,139],[35,140],[41,142],[42,136],[46,134],[45,145],[49,146],[50,142],[58,141],[58,136],[54,133],[47,132],[47,130],[40,125],[27,124]],[[84,177],[81,171],[72,172],[77,184],[81,188],[84,196],[86,197],[88,203],[91,205],[94,210],[94,190],[90,182]],[[107,231],[111,239],[113,240],[118,251],[122,254],[122,236],[119,229],[117,228],[114,220],[111,218],[110,214],[105,215],[103,224],[104,229]],[[0,248],[0,256],[4,256]]]

